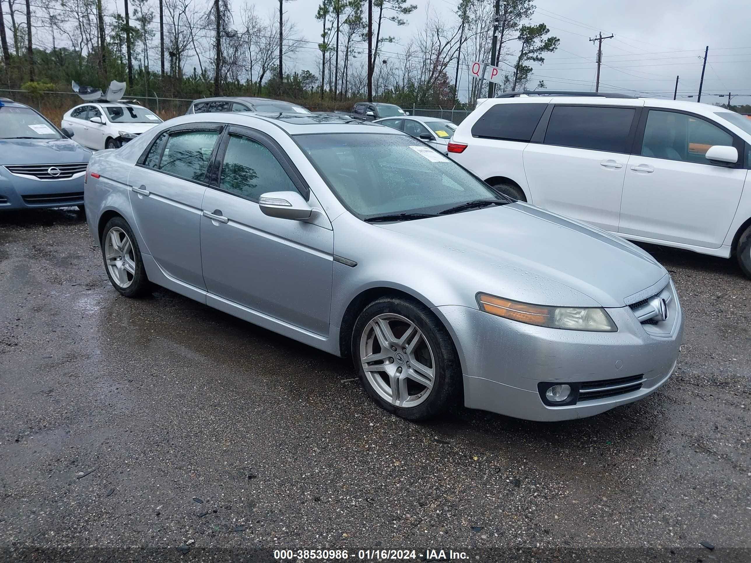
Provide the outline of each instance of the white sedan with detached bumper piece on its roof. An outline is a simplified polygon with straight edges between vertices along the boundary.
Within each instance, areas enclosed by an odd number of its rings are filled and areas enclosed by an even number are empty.
[[[81,145],[100,150],[119,149],[161,122],[158,115],[138,104],[91,102],[65,113],[61,127],[70,128]]]

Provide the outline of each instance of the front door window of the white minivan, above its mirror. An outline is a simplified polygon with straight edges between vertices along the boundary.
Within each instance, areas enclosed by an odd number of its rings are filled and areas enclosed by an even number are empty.
[[[698,116],[650,110],[641,143],[641,155],[712,164],[704,155],[710,146],[732,146],[731,134]]]

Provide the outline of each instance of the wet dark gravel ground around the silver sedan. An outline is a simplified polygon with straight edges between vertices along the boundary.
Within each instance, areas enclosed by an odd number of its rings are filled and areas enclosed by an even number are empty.
[[[749,561],[751,281],[647,249],[686,315],[661,390],[566,423],[415,424],[348,361],[166,290],[119,297],[77,212],[0,215],[0,557]]]

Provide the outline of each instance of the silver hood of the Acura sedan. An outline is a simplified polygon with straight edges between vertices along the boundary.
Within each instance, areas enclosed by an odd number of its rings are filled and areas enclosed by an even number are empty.
[[[421,239],[436,263],[450,256],[476,291],[527,303],[623,307],[665,276],[631,242],[526,203],[382,227]]]

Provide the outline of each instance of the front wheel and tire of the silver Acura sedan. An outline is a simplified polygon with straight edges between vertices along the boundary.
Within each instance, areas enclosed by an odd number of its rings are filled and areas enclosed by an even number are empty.
[[[371,303],[354,324],[351,354],[368,395],[399,417],[435,417],[460,396],[454,342],[421,303],[400,297]]]

